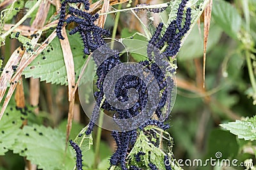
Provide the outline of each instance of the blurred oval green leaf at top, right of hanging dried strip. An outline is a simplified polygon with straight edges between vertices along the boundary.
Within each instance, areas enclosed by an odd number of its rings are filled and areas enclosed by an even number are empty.
[[[228,36],[237,39],[242,19],[236,8],[223,0],[216,0],[212,4],[212,17]]]

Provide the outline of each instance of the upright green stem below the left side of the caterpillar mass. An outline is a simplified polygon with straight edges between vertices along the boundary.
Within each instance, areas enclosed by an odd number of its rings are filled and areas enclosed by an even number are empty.
[[[101,103],[100,103],[100,108],[102,106],[102,104],[105,101],[105,96],[103,97]],[[98,158],[99,158],[99,150],[100,150],[100,138],[101,138],[101,126],[103,124],[103,116],[104,113],[102,113],[102,111],[100,111],[100,117],[99,117],[99,125],[98,125],[98,129],[97,129],[97,136],[96,136],[96,143],[95,143],[95,157],[94,157],[94,164],[93,164],[93,168],[97,168],[98,166]]]

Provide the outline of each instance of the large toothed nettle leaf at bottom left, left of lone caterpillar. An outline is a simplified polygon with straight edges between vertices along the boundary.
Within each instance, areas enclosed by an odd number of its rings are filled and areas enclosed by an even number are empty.
[[[24,126],[18,134],[13,153],[31,160],[39,169],[72,169],[72,147],[65,152],[65,134],[43,125]]]

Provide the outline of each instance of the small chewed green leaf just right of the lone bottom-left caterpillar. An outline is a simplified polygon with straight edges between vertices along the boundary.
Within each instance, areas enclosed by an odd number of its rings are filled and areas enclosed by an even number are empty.
[[[92,134],[86,135],[85,132],[88,129],[88,125],[84,127],[79,134],[76,136],[76,139],[74,142],[77,143],[77,145],[80,147],[83,155],[83,166],[86,166],[88,168],[92,167],[92,158],[94,157],[94,153],[92,152],[91,146],[93,144]],[[84,155],[92,155],[92,157],[89,157],[88,159],[84,159]]]

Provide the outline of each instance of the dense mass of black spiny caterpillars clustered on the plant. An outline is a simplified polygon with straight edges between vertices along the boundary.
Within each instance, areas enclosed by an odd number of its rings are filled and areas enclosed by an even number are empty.
[[[147,122],[143,123],[143,125],[140,125],[138,129],[141,131],[144,131],[144,128],[148,125],[155,125],[163,130],[166,130],[170,127],[168,124],[164,124],[164,122],[160,121],[161,118],[163,118],[162,112],[163,108],[168,102],[168,92],[172,92],[174,84],[173,80],[170,76],[164,76],[163,71],[161,71],[161,68],[157,66],[157,64],[154,62],[154,59],[157,59],[157,57],[161,55],[165,55],[166,57],[173,57],[174,55],[179,52],[180,48],[180,41],[182,36],[186,34],[186,32],[189,30],[189,26],[191,24],[191,9],[187,8],[186,10],[186,18],[185,22],[182,27],[182,15],[184,13],[184,7],[186,5],[188,0],[182,0],[182,2],[179,5],[177,18],[176,20],[173,20],[170,25],[166,28],[166,31],[162,35],[163,30],[163,23],[160,23],[156,29],[156,32],[154,32],[154,35],[148,42],[148,48],[147,48],[147,55],[148,60],[144,60],[139,62],[143,67],[147,67],[147,69],[154,75],[154,78],[157,81],[157,84],[159,86],[159,96],[160,100],[156,107],[156,116],[157,120],[154,120],[150,118],[147,120]],[[87,13],[86,11],[77,10],[76,8],[69,7],[68,13],[71,15],[70,17],[65,20],[65,13],[66,13],[66,6],[67,3],[83,3],[84,9],[89,10],[90,4],[88,3],[88,0],[65,0],[61,4],[61,10],[60,10],[60,20],[58,22],[58,26],[56,29],[57,36],[60,39],[64,39],[61,34],[61,29],[63,27],[64,22],[67,22],[67,24],[74,22],[76,24],[76,27],[72,29],[69,34],[76,34],[79,32],[81,39],[83,40],[84,44],[84,53],[90,54],[94,53],[94,55],[108,55],[109,53],[115,53],[115,50],[112,50],[108,46],[104,46],[104,48],[99,49],[100,46],[106,45],[104,41],[104,36],[109,35],[109,31],[102,29],[94,24],[94,21],[99,18],[98,14],[91,15],[90,13]],[[154,9],[150,9],[154,10]],[[161,8],[158,9],[159,12],[161,11]],[[162,9],[164,10],[164,9]],[[153,11],[154,12],[154,11]],[[160,53],[160,51],[154,50],[155,48],[151,48],[151,46],[155,46],[157,49],[163,48],[163,46],[167,43],[167,48],[163,53]],[[138,78],[137,76],[127,74],[125,76],[122,76],[118,81],[115,83],[115,97],[120,102],[125,102],[129,100],[129,97],[127,95],[127,89],[136,89],[138,91],[138,101],[129,109],[121,110],[119,108],[115,108],[114,106],[111,106],[111,104],[108,103],[108,101],[104,100],[104,87],[103,83],[106,78],[106,75],[113,69],[113,67],[118,66],[118,64],[121,64],[120,56],[118,53],[115,55],[109,55],[111,57],[108,57],[104,60],[104,62],[97,65],[97,71],[96,74],[98,76],[97,78],[97,92],[94,93],[94,96],[96,97],[96,104],[95,108],[92,112],[92,118],[90,120],[90,123],[88,125],[88,129],[86,131],[86,135],[91,134],[93,131],[93,127],[95,125],[95,122],[97,122],[97,119],[99,118],[99,111],[97,108],[100,107],[100,109],[105,111],[112,111],[114,112],[115,116],[114,119],[121,119],[125,120],[127,118],[132,118],[141,112],[143,108],[145,108],[145,105],[148,101],[148,90],[145,83]],[[93,58],[94,59],[94,58]],[[97,61],[95,61],[97,63]],[[170,85],[167,85],[167,82],[171,82]],[[140,121],[140,120],[136,120]],[[134,143],[136,142],[137,136],[137,129],[133,129],[131,131],[113,131],[112,136],[115,139],[116,142],[116,150],[115,153],[113,153],[110,164],[113,166],[120,166],[122,170],[127,169],[126,165],[126,157],[127,152],[131,150],[131,148],[134,146]],[[78,167],[82,166],[81,163],[81,150],[79,151],[77,148],[76,143],[70,141],[70,145],[74,147],[74,149],[77,151],[77,169]],[[141,153],[141,157],[143,154]],[[140,157],[138,156],[138,157]],[[140,160],[140,159],[137,159]],[[165,160],[165,157],[164,157]],[[136,166],[130,166],[131,169],[140,169]],[[156,165],[148,164],[148,167],[151,169],[157,169]],[[166,169],[169,167],[166,167]]]

